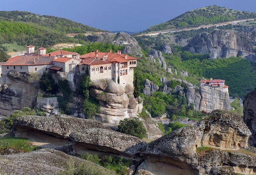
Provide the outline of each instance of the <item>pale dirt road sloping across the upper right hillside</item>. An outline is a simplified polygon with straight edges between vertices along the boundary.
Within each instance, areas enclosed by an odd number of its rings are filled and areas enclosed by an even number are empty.
[[[224,22],[224,23],[219,23],[219,24],[209,24],[209,25],[206,25],[206,26],[191,27],[191,28],[188,28],[188,29],[162,30],[162,31],[153,32],[153,33],[140,34],[138,36],[154,36],[154,35],[158,35],[160,33],[169,33],[169,32],[173,33],[173,32],[177,32],[177,31],[185,31],[185,30],[198,30],[198,29],[202,29],[202,28],[205,28],[205,27],[213,27],[213,26],[219,27],[219,26],[225,26],[227,24],[236,24],[236,23],[239,23],[239,22],[244,22],[244,21],[247,21],[247,20],[255,20],[255,18],[254,19],[233,20],[233,21],[230,21],[230,22]]]

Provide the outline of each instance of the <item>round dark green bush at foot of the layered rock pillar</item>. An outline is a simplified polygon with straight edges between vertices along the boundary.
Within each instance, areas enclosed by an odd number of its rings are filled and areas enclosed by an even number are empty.
[[[124,120],[120,120],[117,131],[137,136],[140,139],[147,135],[147,131],[143,127],[143,122],[139,118],[125,118]]]

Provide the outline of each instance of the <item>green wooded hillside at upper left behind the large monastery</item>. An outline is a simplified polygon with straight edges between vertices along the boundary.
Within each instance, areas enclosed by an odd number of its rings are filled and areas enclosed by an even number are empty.
[[[78,43],[68,33],[104,32],[81,23],[56,16],[36,15],[30,12],[0,12],[0,48],[4,51],[20,51],[25,46],[50,47],[57,43]],[[13,50],[6,43],[15,46]],[[22,48],[22,49],[21,49]]]

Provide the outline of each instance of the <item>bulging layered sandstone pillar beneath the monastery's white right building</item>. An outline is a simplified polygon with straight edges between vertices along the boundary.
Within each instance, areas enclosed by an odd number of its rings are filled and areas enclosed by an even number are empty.
[[[130,82],[123,87],[112,79],[101,79],[92,82],[90,94],[101,105],[96,120],[118,125],[124,118],[139,115],[136,111],[137,102],[133,96],[133,84]]]

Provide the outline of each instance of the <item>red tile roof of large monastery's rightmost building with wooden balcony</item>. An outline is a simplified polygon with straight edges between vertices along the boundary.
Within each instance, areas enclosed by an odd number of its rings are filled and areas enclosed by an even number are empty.
[[[98,58],[103,59],[103,56],[108,55],[106,61],[108,62],[128,62],[130,60],[138,60],[138,58],[130,57],[127,55],[127,59],[125,59],[124,54],[117,53],[98,53]],[[96,58],[96,53],[88,53],[81,55],[80,58]]]

